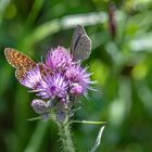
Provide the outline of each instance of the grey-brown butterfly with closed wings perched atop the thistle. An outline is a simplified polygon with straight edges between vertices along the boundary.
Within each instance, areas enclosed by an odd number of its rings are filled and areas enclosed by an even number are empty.
[[[71,53],[75,61],[84,61],[91,53],[91,40],[81,25],[77,25],[74,30]]]

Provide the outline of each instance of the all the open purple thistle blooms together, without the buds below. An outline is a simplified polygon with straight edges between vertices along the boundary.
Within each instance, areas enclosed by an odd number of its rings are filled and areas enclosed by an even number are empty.
[[[87,73],[87,68],[83,68],[79,62],[73,61],[65,48],[58,47],[51,50],[46,58],[46,63],[42,64],[46,72],[50,68],[52,73],[43,75],[37,66],[27,72],[22,81],[24,86],[38,91],[37,96],[67,103],[71,94],[76,97],[87,94],[92,84],[89,78],[91,74]]]

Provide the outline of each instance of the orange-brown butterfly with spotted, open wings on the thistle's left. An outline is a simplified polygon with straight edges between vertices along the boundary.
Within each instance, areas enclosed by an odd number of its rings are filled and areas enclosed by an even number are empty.
[[[43,63],[36,63],[30,58],[15,49],[5,48],[4,55],[8,62],[16,68],[15,77],[18,81],[22,81],[26,77],[27,72],[35,67],[39,67],[41,76],[45,76],[48,72],[51,74],[51,69]]]

